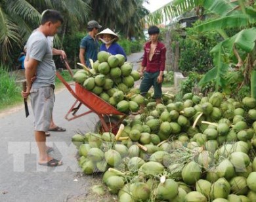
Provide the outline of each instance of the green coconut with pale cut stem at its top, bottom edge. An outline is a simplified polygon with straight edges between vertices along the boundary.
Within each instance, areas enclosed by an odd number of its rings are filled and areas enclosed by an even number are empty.
[[[171,200],[179,193],[179,184],[173,179],[167,179],[165,182],[158,184],[156,188],[156,199]]]

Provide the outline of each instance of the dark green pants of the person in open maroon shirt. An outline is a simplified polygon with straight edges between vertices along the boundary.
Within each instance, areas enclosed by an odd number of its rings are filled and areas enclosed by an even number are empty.
[[[140,83],[140,92],[142,96],[145,96],[149,89],[153,86],[154,87],[154,98],[160,99],[161,98],[161,83],[158,83],[158,75],[160,71],[156,71],[154,73],[150,73],[145,71],[143,79]]]

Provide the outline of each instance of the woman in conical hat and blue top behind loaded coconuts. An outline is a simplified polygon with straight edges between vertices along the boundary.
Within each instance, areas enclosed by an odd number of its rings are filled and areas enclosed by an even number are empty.
[[[125,56],[125,60],[127,60],[125,51],[123,48],[116,42],[119,37],[114,31],[106,28],[100,33],[97,34],[100,41],[102,41],[102,45],[100,46],[100,51],[110,52],[112,55],[122,54]]]

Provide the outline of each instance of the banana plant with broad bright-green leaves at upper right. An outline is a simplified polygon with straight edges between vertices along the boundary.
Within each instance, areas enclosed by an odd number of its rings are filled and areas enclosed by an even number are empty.
[[[184,12],[192,7],[204,8],[213,17],[200,26],[196,26],[196,29],[198,31],[218,31],[223,36],[223,41],[211,50],[215,66],[205,73],[199,85],[214,80],[217,90],[221,87],[221,90],[230,93],[230,87],[234,87],[234,84],[240,81],[241,75],[243,75],[243,81],[236,84],[237,90],[243,85],[249,85],[249,81],[251,81],[251,95],[256,96],[254,87],[256,72],[251,71],[256,64],[256,29],[253,28],[256,21],[254,1],[179,0],[167,5],[164,9],[175,6],[177,8],[175,12],[171,12],[172,16],[180,14],[180,10]],[[233,35],[228,35],[227,31],[234,28],[238,31]]]

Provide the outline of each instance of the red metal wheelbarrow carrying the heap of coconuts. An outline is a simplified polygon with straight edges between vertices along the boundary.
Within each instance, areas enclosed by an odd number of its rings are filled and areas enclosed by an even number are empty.
[[[64,65],[70,75],[73,77],[74,74],[72,69],[66,60],[64,60]],[[114,134],[117,133],[119,125],[123,119],[127,117],[127,114],[118,111],[116,108],[114,108],[114,106],[110,105],[105,100],[102,100],[102,98],[93,92],[88,91],[79,83],[75,83],[74,91],[74,88],[72,88],[71,85],[66,82],[66,80],[62,77],[62,75],[60,75],[58,71],[56,72],[56,75],[76,99],[70,110],[68,110],[66,113],[65,119],[71,121],[89,113],[96,113],[96,115],[98,115],[99,121],[95,125],[95,132],[112,132]],[[89,110],[77,114],[77,111],[79,111],[82,105],[86,106]]]

